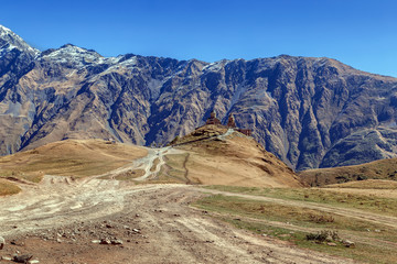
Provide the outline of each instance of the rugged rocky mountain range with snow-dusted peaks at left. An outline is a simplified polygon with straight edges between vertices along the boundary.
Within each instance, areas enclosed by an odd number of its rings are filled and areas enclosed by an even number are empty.
[[[164,145],[215,111],[297,170],[353,165],[397,156],[396,107],[396,78],[331,58],[40,52],[0,26],[2,155],[64,139]]]

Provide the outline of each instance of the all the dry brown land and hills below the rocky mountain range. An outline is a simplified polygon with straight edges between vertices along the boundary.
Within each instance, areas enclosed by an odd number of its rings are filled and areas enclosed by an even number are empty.
[[[0,199],[0,234],[7,241],[0,263],[11,263],[15,252],[65,264],[397,261],[393,184],[307,188],[250,142],[207,125],[162,148],[62,141],[4,156],[1,183],[20,191]],[[39,154],[53,157],[52,165],[44,166]],[[104,163],[104,155],[119,167]],[[63,166],[72,157],[82,158],[78,169]],[[267,162],[258,166],[257,158]],[[39,180],[31,176],[37,174],[35,164]],[[96,174],[96,166],[104,173]]]

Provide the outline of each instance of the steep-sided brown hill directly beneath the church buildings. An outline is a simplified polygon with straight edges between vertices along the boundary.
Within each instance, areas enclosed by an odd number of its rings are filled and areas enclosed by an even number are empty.
[[[183,176],[205,185],[300,187],[297,175],[253,138],[224,125],[204,125],[173,146],[186,152]],[[183,155],[183,154],[182,154]],[[172,155],[169,155],[173,158]],[[182,176],[182,175],[180,175]]]

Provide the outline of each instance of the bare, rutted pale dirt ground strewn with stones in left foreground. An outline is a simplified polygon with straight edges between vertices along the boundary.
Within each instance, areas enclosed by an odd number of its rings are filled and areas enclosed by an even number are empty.
[[[352,263],[213,219],[190,207],[206,195],[194,186],[45,176],[22,187],[0,199],[4,258],[18,253],[75,264]]]

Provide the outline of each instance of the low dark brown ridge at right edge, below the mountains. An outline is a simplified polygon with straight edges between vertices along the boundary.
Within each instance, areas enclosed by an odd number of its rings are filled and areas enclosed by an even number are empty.
[[[310,186],[364,179],[397,180],[397,158],[386,158],[354,166],[308,169],[300,172],[299,177]]]

